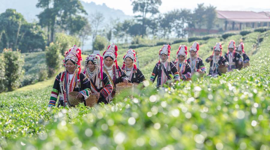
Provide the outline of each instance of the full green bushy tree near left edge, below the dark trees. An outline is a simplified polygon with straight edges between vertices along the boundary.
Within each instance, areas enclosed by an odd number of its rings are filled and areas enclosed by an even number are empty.
[[[4,49],[2,54],[6,69],[5,79],[7,84],[5,86],[8,91],[13,91],[21,85],[21,79],[24,74],[22,69],[24,59],[19,51],[12,51],[12,49]]]

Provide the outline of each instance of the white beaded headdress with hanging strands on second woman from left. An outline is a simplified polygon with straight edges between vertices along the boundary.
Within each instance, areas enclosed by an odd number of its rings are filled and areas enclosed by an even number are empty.
[[[89,68],[87,67],[88,61],[92,61],[95,64],[95,70],[92,73]],[[102,87],[102,80],[103,80],[103,59],[101,55],[95,54],[88,54],[85,58],[85,70],[83,73],[89,78],[90,76],[96,77],[95,85],[99,89]]]

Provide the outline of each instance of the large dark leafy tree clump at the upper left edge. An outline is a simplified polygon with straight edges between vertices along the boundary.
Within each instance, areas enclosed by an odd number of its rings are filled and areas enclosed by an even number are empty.
[[[46,37],[41,27],[28,23],[22,14],[7,9],[0,15],[0,47],[34,52],[45,49]]]

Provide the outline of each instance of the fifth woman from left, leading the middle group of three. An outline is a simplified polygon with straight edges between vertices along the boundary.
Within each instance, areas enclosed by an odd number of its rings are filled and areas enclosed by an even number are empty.
[[[174,79],[179,80],[177,68],[173,62],[170,61],[170,51],[170,45],[164,45],[159,51],[159,62],[155,65],[150,78],[150,81],[155,82],[155,79],[158,76],[157,87],[160,87],[166,81],[170,80],[170,74],[174,75]]]

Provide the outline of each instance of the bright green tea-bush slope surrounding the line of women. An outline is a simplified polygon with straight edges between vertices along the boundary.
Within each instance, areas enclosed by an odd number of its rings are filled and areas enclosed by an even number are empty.
[[[258,39],[261,40],[258,43]],[[216,42],[243,41],[251,66],[217,78],[179,82],[95,108],[52,108],[52,83],[0,94],[4,149],[269,149],[270,31],[198,41],[205,59]],[[172,45],[172,60],[180,44]],[[135,49],[149,79],[161,46]],[[128,49],[119,49],[121,64]],[[209,68],[209,67],[207,67]],[[208,69],[207,69],[208,70]],[[52,80],[48,81],[52,82]],[[37,83],[40,84],[40,83]],[[28,88],[30,87],[30,88]],[[31,88],[32,87],[32,88]],[[16,144],[13,144],[16,143]]]

